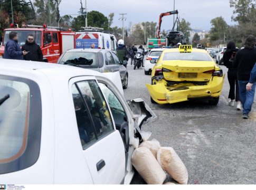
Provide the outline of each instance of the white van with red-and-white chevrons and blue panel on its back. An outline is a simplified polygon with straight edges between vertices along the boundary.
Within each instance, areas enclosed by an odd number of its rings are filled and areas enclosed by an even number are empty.
[[[75,48],[88,49],[95,44],[96,49],[116,51],[117,39],[115,35],[104,32],[98,27],[87,27],[83,31],[75,33]]]

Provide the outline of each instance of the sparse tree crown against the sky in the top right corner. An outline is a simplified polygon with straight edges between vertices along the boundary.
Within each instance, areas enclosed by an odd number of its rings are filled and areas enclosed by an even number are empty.
[[[252,18],[255,18],[255,3],[255,0],[230,0],[230,7],[234,8],[232,20],[239,24],[252,22]]]

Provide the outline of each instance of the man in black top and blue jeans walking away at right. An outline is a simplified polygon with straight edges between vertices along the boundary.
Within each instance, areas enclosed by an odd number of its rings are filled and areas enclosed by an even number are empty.
[[[238,69],[238,83],[240,100],[243,106],[243,118],[248,119],[252,109],[256,83],[253,84],[251,91],[246,91],[254,64],[256,63],[256,49],[254,48],[256,39],[250,35],[244,45],[244,49],[239,50],[235,55],[234,68]]]

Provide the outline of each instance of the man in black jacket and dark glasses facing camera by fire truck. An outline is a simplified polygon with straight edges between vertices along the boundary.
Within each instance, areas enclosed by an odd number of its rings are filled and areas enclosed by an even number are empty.
[[[24,60],[27,61],[43,61],[43,53],[38,44],[35,43],[35,38],[32,34],[27,36],[26,44],[22,46],[22,51],[28,52],[24,55]]]

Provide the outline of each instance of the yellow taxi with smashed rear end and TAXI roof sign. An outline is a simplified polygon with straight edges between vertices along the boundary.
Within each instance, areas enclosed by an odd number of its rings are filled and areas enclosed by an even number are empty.
[[[179,49],[163,51],[152,70],[151,84],[146,86],[153,103],[207,98],[210,105],[217,105],[224,77],[223,71],[205,50],[181,45]]]

